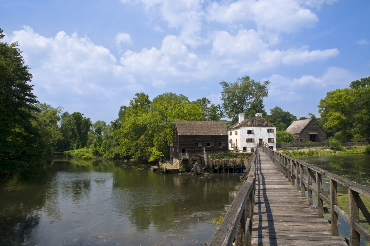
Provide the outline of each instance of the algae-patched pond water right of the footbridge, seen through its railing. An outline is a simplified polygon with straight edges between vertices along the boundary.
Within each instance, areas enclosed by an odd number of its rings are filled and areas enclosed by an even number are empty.
[[[314,166],[320,167],[328,172],[337,174],[341,177],[349,179],[351,181],[360,183],[361,185],[370,187],[370,155],[368,154],[339,154],[331,156],[309,156],[299,157],[307,163],[313,164]],[[327,195],[330,195],[330,184],[327,177],[322,176],[323,189]],[[338,206],[348,213],[348,188],[338,183]],[[306,192],[307,196],[307,192]],[[370,199],[361,196],[361,199],[370,210]],[[316,199],[314,199],[314,206],[317,206]],[[326,218],[330,219],[330,215],[326,214]],[[349,238],[349,224],[339,217],[339,235],[342,237]],[[360,212],[360,224],[370,229],[369,224],[364,219]],[[365,240],[361,238],[361,245],[365,246]],[[370,244],[367,244],[370,245]]]

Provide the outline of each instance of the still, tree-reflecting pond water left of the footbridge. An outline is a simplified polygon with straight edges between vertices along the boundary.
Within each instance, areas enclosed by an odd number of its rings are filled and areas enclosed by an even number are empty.
[[[0,180],[0,245],[204,245],[239,174],[157,174],[143,164],[54,159]]]

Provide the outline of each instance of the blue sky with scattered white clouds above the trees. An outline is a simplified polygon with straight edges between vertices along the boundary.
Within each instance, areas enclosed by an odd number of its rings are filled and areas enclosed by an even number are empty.
[[[219,82],[271,82],[266,111],[317,113],[326,92],[370,76],[370,2],[346,0],[2,0],[40,102],[92,122],[137,92],[221,104]]]

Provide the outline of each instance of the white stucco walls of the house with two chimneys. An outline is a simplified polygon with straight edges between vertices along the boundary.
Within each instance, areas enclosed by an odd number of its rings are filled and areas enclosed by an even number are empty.
[[[267,132],[267,129],[274,129],[274,132]],[[247,134],[247,130],[253,130],[253,134]],[[235,135],[235,131],[238,132],[237,135]],[[267,143],[269,146],[273,146],[274,150],[276,150],[276,128],[275,127],[241,127],[229,132],[229,149],[231,148],[230,139],[232,139],[232,143],[235,143],[237,140],[237,145],[239,148],[247,147],[247,152],[250,152],[249,148],[254,148],[256,150],[257,143],[259,139],[263,139],[262,142]],[[230,132],[232,132],[232,135],[230,136]],[[245,139],[254,139],[254,143],[246,143]],[[268,139],[273,138],[274,142],[269,143]]]

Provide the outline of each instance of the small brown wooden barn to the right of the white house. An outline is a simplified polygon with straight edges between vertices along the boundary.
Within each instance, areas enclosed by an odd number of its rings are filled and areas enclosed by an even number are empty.
[[[314,119],[296,120],[286,129],[296,138],[297,143],[326,142],[326,132]]]

